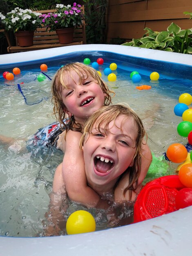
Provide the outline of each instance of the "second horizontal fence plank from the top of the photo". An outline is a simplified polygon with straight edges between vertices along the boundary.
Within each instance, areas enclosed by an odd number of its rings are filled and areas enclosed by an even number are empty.
[[[125,21],[138,21],[138,20],[166,20],[166,19],[179,19],[188,18],[183,12],[188,9],[192,12],[191,7],[172,7],[172,12],[170,9],[156,9],[156,10],[146,10],[146,11],[132,11],[132,12],[117,12],[108,15],[108,22],[125,22]],[[117,14],[118,13],[118,14]]]

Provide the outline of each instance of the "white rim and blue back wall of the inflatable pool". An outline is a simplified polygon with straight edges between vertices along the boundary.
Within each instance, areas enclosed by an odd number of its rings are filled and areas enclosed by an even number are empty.
[[[135,66],[145,66],[149,70],[156,67],[163,77],[181,77],[192,80],[192,56],[141,49],[120,45],[80,45],[45,49],[34,52],[5,54],[0,58],[0,70],[13,66],[33,65],[51,61],[57,62],[63,55],[73,59],[73,53],[82,56],[113,56],[121,65],[121,59]],[[128,62],[127,61],[127,62]],[[129,67],[127,66],[127,69]],[[170,72],[171,70],[171,72]],[[141,68],[141,74],[144,72]],[[171,75],[170,75],[171,73]],[[2,74],[0,74],[2,75]],[[191,90],[191,88],[189,89]],[[191,253],[192,207],[187,207],[167,215],[93,233],[42,237],[14,238],[0,237],[0,251],[6,256],[52,256],[57,255],[155,255],[180,256]]]

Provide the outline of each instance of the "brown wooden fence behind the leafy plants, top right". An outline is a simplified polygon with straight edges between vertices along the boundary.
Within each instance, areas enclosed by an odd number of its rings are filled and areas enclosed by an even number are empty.
[[[171,22],[181,29],[192,28],[192,0],[109,0],[107,10],[107,43],[113,38],[141,38],[145,27],[166,30]]]

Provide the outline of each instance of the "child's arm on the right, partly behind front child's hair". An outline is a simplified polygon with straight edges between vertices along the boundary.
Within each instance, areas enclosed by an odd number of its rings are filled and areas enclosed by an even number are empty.
[[[150,167],[151,162],[152,162],[151,150],[149,146],[147,146],[147,144],[145,143],[142,146],[141,173],[138,177],[138,187],[135,191],[133,191],[131,198],[129,198],[129,190],[125,193],[125,195],[123,195],[123,191],[129,185],[129,172],[126,172],[121,178],[121,180],[118,182],[118,185],[115,189],[114,197],[116,202],[121,202],[123,200],[133,201],[135,199],[136,194],[139,193],[139,191],[141,190],[142,182],[145,179],[145,176],[147,175],[147,171]]]

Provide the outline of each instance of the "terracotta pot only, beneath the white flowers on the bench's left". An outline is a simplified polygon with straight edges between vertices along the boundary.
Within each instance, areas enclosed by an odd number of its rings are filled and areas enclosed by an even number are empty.
[[[19,46],[27,47],[33,45],[34,31],[17,31],[15,32],[15,35]]]

